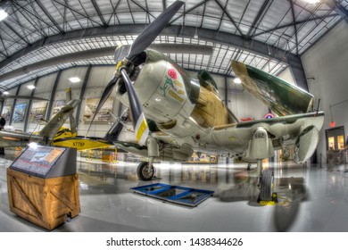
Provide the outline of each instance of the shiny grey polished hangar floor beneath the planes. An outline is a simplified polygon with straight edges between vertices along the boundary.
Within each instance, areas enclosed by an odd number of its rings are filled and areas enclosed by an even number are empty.
[[[46,231],[10,211],[6,168],[11,163],[11,159],[0,159],[0,231]],[[275,205],[257,203],[255,165],[251,171],[244,164],[158,163],[156,167],[158,179],[145,182],[137,179],[137,163],[79,158],[81,212],[54,231],[348,231],[344,165],[327,169],[269,164],[275,171]],[[129,190],[156,182],[208,189],[214,195],[190,208]]]

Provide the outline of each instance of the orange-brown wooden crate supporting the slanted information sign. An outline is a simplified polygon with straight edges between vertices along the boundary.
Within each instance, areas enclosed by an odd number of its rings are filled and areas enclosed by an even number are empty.
[[[42,179],[7,169],[7,189],[11,212],[45,229],[80,212],[78,174]]]

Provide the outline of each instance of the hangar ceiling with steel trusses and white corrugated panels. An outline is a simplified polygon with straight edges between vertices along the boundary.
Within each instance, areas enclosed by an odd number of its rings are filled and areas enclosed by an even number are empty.
[[[114,47],[131,45],[173,2],[1,1],[8,17],[0,21],[0,89],[77,65],[114,64]],[[169,44],[163,52],[187,70],[233,75],[237,60],[278,75],[342,20],[348,0],[186,0],[154,44]]]

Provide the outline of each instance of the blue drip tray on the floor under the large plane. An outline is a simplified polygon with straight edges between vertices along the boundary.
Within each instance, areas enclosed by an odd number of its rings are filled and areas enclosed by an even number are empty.
[[[151,196],[170,203],[184,204],[188,206],[197,206],[214,193],[210,190],[171,186],[162,183],[155,183],[141,187],[131,187],[130,189],[140,195]]]

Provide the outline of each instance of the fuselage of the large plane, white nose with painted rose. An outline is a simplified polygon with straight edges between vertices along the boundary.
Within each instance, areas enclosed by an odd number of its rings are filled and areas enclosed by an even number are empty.
[[[146,50],[144,62],[132,72],[131,79],[143,105],[145,117],[154,121],[163,133],[154,133],[166,141],[176,140],[179,146],[188,144],[201,151],[220,151],[229,148],[244,150],[244,143],[235,140],[215,140],[213,128],[236,123],[236,117],[221,101],[211,76],[204,71],[194,79],[183,68],[164,54]],[[128,106],[128,96],[122,84],[117,87],[117,97]],[[239,151],[239,150],[238,150]]]

